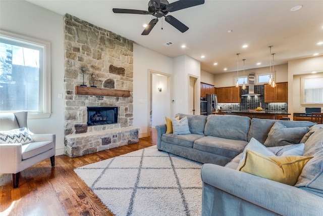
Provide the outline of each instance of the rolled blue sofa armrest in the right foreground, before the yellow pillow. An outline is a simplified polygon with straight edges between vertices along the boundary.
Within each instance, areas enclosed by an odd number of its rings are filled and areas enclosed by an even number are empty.
[[[323,198],[303,189],[216,164],[203,164],[204,184],[281,215],[321,215]],[[202,203],[204,204],[204,203]]]

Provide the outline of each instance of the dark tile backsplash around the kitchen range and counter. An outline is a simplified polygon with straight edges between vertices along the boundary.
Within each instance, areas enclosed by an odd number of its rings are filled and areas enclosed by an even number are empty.
[[[248,88],[245,90],[241,90],[241,95],[248,93]],[[241,97],[241,103],[219,103],[220,109],[222,110],[247,110],[247,109],[255,109],[257,107],[261,107],[264,110],[268,111],[287,111],[288,104],[287,103],[265,103],[264,102],[264,85],[255,85],[254,93],[260,94],[260,96],[248,96]]]

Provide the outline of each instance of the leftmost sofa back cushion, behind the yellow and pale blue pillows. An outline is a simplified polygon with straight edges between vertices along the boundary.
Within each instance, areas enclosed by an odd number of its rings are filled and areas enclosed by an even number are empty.
[[[183,117],[187,117],[188,126],[191,134],[200,134],[204,135],[204,127],[206,122],[206,115],[185,115],[178,113],[175,116],[182,119]]]

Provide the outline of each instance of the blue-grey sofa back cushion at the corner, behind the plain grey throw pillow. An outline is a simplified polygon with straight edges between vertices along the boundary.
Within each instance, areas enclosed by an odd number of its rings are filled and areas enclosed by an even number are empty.
[[[248,141],[250,141],[251,138],[255,138],[260,143],[264,143],[267,139],[268,133],[271,131],[272,126],[277,121],[282,123],[286,127],[311,127],[314,124],[316,124],[310,121],[284,121],[274,119],[252,118],[250,130],[248,133]]]

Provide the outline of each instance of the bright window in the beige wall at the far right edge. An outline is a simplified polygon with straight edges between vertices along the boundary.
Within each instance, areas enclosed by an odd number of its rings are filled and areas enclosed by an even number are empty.
[[[323,104],[323,75],[302,77],[301,97],[303,105]]]

